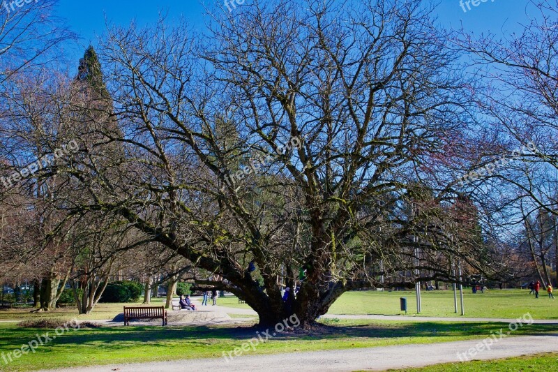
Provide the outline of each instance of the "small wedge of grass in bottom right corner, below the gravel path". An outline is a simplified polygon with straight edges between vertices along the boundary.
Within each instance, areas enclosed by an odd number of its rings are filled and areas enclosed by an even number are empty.
[[[402,369],[400,372],[501,372],[501,371],[556,371],[558,354],[541,354],[529,357],[490,360],[488,362],[466,362],[437,364],[419,369]]]

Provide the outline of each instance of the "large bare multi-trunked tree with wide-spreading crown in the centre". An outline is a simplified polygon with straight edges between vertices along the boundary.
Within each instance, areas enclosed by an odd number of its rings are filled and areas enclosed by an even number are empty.
[[[409,285],[455,280],[454,260],[481,267],[485,246],[458,239],[441,207],[455,202],[443,170],[467,91],[431,10],[255,1],[205,36],[164,20],[112,29],[99,54],[113,106],[88,116],[109,152],[71,170],[66,209],[126,218],[262,324],[296,313],[312,325],[382,276]],[[96,122],[107,116],[118,130]]]

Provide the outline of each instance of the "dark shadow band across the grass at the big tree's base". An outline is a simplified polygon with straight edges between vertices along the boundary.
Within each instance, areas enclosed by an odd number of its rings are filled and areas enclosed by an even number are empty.
[[[369,325],[324,325],[313,331],[285,332],[270,338],[270,341],[320,341],[335,340],[342,338],[432,338],[452,336],[478,336],[479,338],[497,334],[500,329],[508,332],[507,323],[441,323],[441,322],[394,322],[392,324],[369,324]],[[176,326],[176,327],[105,327],[100,329],[77,329],[65,332],[62,336],[51,341],[56,347],[75,347],[78,345],[91,345],[96,348],[110,348],[120,350],[130,345],[149,344],[150,347],[164,347],[169,344],[184,343],[189,347],[203,347],[213,343],[227,343],[247,341],[257,336],[255,327],[211,327],[211,326]],[[260,331],[264,329],[259,329]],[[273,331],[273,329],[270,329]],[[9,329],[0,335],[0,346],[22,345],[33,338],[36,334],[43,335],[52,330],[47,329]],[[271,332],[270,332],[271,333]],[[558,336],[555,325],[523,325],[518,327],[514,336],[531,335],[554,335]]]

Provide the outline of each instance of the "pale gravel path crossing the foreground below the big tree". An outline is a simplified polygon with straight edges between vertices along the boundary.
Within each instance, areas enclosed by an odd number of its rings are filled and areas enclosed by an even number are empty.
[[[424,345],[398,345],[382,348],[329,350],[317,352],[290,352],[288,354],[235,357],[227,362],[219,359],[190,359],[174,362],[119,364],[91,366],[77,369],[59,369],[58,372],[256,372],[287,371],[349,372],[358,370],[383,371],[459,362],[457,352],[467,352],[479,340],[454,341]],[[541,352],[558,352],[558,334],[555,336],[518,336],[502,338],[491,350],[479,352],[470,359],[499,359]],[[290,367],[287,368],[287,365]],[[45,372],[45,371],[43,371]],[[52,370],[50,370],[52,372]]]

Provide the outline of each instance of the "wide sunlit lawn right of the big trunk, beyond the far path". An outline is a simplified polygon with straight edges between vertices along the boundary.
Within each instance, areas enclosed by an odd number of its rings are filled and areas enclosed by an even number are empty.
[[[423,291],[421,316],[455,317],[453,292]],[[407,315],[416,315],[415,292],[347,292],[329,309],[330,314],[404,314],[399,311],[400,297],[407,297]],[[464,292],[467,318],[518,318],[529,312],[535,319],[558,319],[558,301],[539,295],[529,296],[529,290],[489,290],[473,295]],[[458,310],[459,296],[458,296]],[[460,310],[459,310],[460,311]]]

